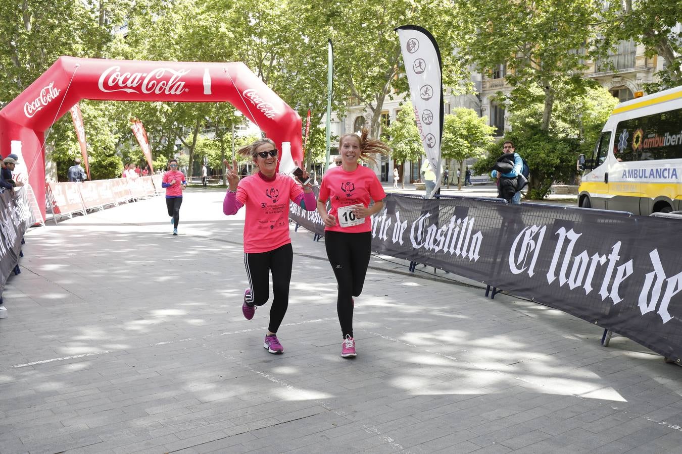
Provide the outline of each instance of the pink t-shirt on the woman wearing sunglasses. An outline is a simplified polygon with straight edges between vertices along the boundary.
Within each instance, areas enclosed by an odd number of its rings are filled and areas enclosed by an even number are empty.
[[[291,243],[289,201],[303,195],[293,178],[275,174],[273,181],[260,174],[239,180],[237,201],[246,206],[244,252],[265,253]]]

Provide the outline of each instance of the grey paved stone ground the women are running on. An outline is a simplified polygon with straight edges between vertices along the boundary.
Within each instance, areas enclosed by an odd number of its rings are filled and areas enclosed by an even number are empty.
[[[293,233],[284,355],[241,315],[242,219],[191,189],[27,233],[0,320],[1,453],[679,453],[682,368],[477,282],[373,257],[340,357],[323,240]]]

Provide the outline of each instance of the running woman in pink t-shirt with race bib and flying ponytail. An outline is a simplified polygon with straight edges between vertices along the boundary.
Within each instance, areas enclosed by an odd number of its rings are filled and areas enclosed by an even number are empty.
[[[322,178],[317,211],[325,223],[325,248],[338,283],[336,311],[343,341],[341,356],[355,357],[353,340],[353,297],[359,296],[365,283],[372,250],[372,214],[381,211],[386,193],[379,178],[358,159],[376,163],[372,155],[387,155],[383,142],[362,135],[345,134],[339,141],[342,165],[329,169]],[[327,212],[327,200],[331,210]],[[370,206],[370,200],[374,205]]]

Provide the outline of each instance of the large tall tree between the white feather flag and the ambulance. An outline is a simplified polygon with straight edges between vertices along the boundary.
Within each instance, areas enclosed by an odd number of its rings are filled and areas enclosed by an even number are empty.
[[[582,94],[593,80],[582,78],[584,59],[596,59],[602,48],[593,46],[601,11],[599,3],[584,0],[471,0],[454,22],[466,39],[463,50],[481,71],[507,65],[513,89],[512,105],[543,103],[540,129],[549,131],[554,102],[562,93]]]

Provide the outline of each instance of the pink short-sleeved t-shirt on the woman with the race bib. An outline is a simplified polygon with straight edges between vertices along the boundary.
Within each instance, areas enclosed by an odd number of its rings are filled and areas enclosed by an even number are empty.
[[[383,200],[386,193],[381,187],[379,178],[376,178],[374,170],[369,167],[358,165],[353,172],[346,172],[343,167],[334,167],[322,178],[319,199],[331,200],[329,214],[336,217],[336,225],[325,227],[325,230],[342,231],[346,233],[362,233],[372,230],[372,219],[366,218],[365,222],[349,227],[341,227],[338,216],[340,207],[363,204],[370,206],[370,199]]]

